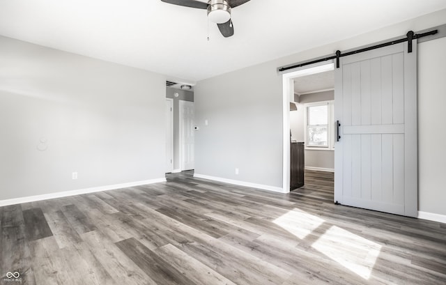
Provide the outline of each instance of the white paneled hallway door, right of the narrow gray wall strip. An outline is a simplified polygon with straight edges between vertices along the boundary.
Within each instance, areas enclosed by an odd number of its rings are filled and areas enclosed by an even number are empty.
[[[194,102],[180,100],[181,171],[194,169]]]

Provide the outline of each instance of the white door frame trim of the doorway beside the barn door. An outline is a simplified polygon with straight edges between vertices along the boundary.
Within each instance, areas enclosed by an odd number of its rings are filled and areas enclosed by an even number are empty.
[[[290,144],[290,102],[294,96],[295,77],[313,75],[320,72],[330,71],[334,69],[334,60],[314,63],[308,66],[296,68],[292,72],[282,75],[283,94],[282,94],[282,192],[290,192],[290,169],[291,169],[291,144]]]

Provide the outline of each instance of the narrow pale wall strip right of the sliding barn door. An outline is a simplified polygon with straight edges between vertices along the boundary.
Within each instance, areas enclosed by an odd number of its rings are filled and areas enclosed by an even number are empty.
[[[418,46],[419,206],[446,215],[446,38]]]

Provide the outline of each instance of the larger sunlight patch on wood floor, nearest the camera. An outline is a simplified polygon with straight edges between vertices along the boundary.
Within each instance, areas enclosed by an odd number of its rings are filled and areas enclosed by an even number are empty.
[[[338,226],[330,227],[312,247],[364,279],[369,279],[381,250],[376,242]]]

